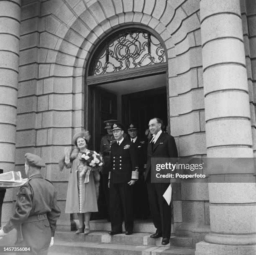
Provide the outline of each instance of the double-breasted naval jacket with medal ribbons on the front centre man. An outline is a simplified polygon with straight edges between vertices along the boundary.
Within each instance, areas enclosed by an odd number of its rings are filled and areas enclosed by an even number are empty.
[[[131,181],[132,171],[138,170],[138,153],[128,140],[118,146],[115,142],[110,148],[111,173],[110,183],[128,183]]]

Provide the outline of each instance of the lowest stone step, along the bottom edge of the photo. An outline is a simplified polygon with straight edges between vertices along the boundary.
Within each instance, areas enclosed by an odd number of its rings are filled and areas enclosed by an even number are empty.
[[[181,247],[158,247],[147,245],[128,245],[97,242],[72,242],[55,240],[49,249],[49,254],[72,254],[72,255],[194,255],[195,249]]]

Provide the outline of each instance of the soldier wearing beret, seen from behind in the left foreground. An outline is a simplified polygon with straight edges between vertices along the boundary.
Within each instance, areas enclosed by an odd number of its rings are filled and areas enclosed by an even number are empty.
[[[49,246],[53,245],[56,221],[61,213],[56,190],[43,178],[41,167],[45,167],[45,163],[39,156],[26,153],[28,181],[18,190],[15,213],[0,230],[0,237],[3,237],[15,228],[16,245],[30,246],[29,254],[47,254]]]

